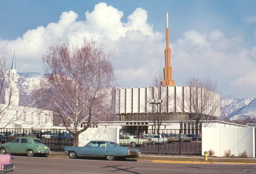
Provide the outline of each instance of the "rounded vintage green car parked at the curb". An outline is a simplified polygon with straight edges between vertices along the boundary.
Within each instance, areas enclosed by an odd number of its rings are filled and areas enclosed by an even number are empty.
[[[31,137],[18,137],[12,143],[4,143],[0,146],[0,154],[27,154],[34,156],[35,154],[51,154],[50,148],[44,145],[40,139]]]

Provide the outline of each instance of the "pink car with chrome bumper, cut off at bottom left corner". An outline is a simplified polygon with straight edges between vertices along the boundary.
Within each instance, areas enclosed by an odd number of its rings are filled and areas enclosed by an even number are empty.
[[[13,155],[0,154],[0,174],[12,172],[15,164],[12,162]]]

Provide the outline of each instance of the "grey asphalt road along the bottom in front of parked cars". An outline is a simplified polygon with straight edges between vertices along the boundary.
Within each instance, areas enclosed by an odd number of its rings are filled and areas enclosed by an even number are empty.
[[[255,164],[173,164],[131,161],[106,161],[104,159],[61,159],[27,156],[14,156],[13,162],[15,163],[16,168],[12,172],[12,174],[256,174]]]

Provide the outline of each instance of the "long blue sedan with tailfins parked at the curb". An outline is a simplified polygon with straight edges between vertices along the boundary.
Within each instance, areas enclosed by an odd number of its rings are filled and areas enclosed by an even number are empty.
[[[128,149],[121,147],[115,142],[111,141],[90,141],[83,147],[64,147],[65,154],[69,158],[75,159],[79,157],[106,157],[107,160],[112,161],[115,158],[138,158],[140,157],[140,149]]]

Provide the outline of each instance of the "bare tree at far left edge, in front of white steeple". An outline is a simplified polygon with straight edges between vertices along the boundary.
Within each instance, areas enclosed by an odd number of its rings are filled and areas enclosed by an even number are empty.
[[[8,70],[10,70],[10,64],[3,55],[0,57],[0,128],[15,124],[24,112],[24,107],[20,108],[14,101],[15,98],[19,98],[19,92],[15,83],[9,83]],[[20,115],[16,111],[20,111]]]

